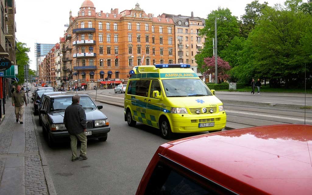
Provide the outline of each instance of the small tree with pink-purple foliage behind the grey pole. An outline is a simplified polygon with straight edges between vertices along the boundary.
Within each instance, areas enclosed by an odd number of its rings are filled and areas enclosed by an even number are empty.
[[[204,58],[205,64],[202,66],[202,69],[204,69],[204,76],[208,76],[209,74],[212,74],[212,79],[215,79],[215,57],[208,57]],[[221,59],[219,56],[217,57],[217,63],[218,63],[218,81],[221,81],[221,79],[227,79],[229,78],[229,75],[226,73],[227,70],[231,69],[231,66],[228,62]]]

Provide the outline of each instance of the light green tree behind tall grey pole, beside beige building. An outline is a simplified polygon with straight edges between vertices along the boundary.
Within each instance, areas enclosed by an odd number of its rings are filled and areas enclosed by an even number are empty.
[[[200,30],[199,34],[206,37],[204,48],[200,54],[195,55],[197,67],[201,72],[204,72],[204,69],[202,69],[202,66],[205,64],[204,58],[212,57],[213,55],[212,39],[215,36],[215,19],[217,19],[218,52],[221,52],[235,36],[239,36],[239,21],[236,16],[232,15],[232,12],[228,8],[219,7],[218,10],[214,10],[208,14],[205,27]],[[222,55],[219,56],[222,58]]]

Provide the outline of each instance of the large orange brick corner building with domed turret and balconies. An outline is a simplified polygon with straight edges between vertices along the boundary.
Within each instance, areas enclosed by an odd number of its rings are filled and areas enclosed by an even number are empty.
[[[176,63],[173,18],[153,17],[139,4],[130,10],[96,12],[85,0],[61,42],[64,77],[88,88],[105,80],[126,82],[136,65]]]

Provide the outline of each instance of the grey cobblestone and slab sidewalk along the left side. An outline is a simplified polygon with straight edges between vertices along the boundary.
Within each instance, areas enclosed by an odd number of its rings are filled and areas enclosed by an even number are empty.
[[[25,107],[25,126],[16,123],[12,105],[6,104],[6,106],[8,110],[11,107],[11,113],[6,113],[8,115],[6,116],[6,121],[3,121],[0,125],[0,195],[7,192],[10,192],[9,194],[16,193],[17,191],[14,191],[14,189],[13,191],[9,189],[10,185],[12,185],[12,187],[18,186],[18,188],[22,186],[18,192],[24,191],[23,194],[26,195],[48,195],[48,186],[41,162],[34,123],[32,121],[31,106],[28,105]],[[25,139],[24,150],[22,150],[22,152],[14,152],[15,147],[13,145],[16,143],[16,137]],[[8,158],[10,160],[8,160]],[[19,159],[22,162],[14,162],[14,159]],[[8,162],[10,162],[11,165]],[[18,165],[14,167],[14,164]],[[9,171],[14,172],[17,168],[19,168],[18,170],[23,170],[21,173],[17,173],[17,176],[23,178],[22,181],[20,181],[20,185],[19,183],[12,183],[12,178],[9,178]]]

